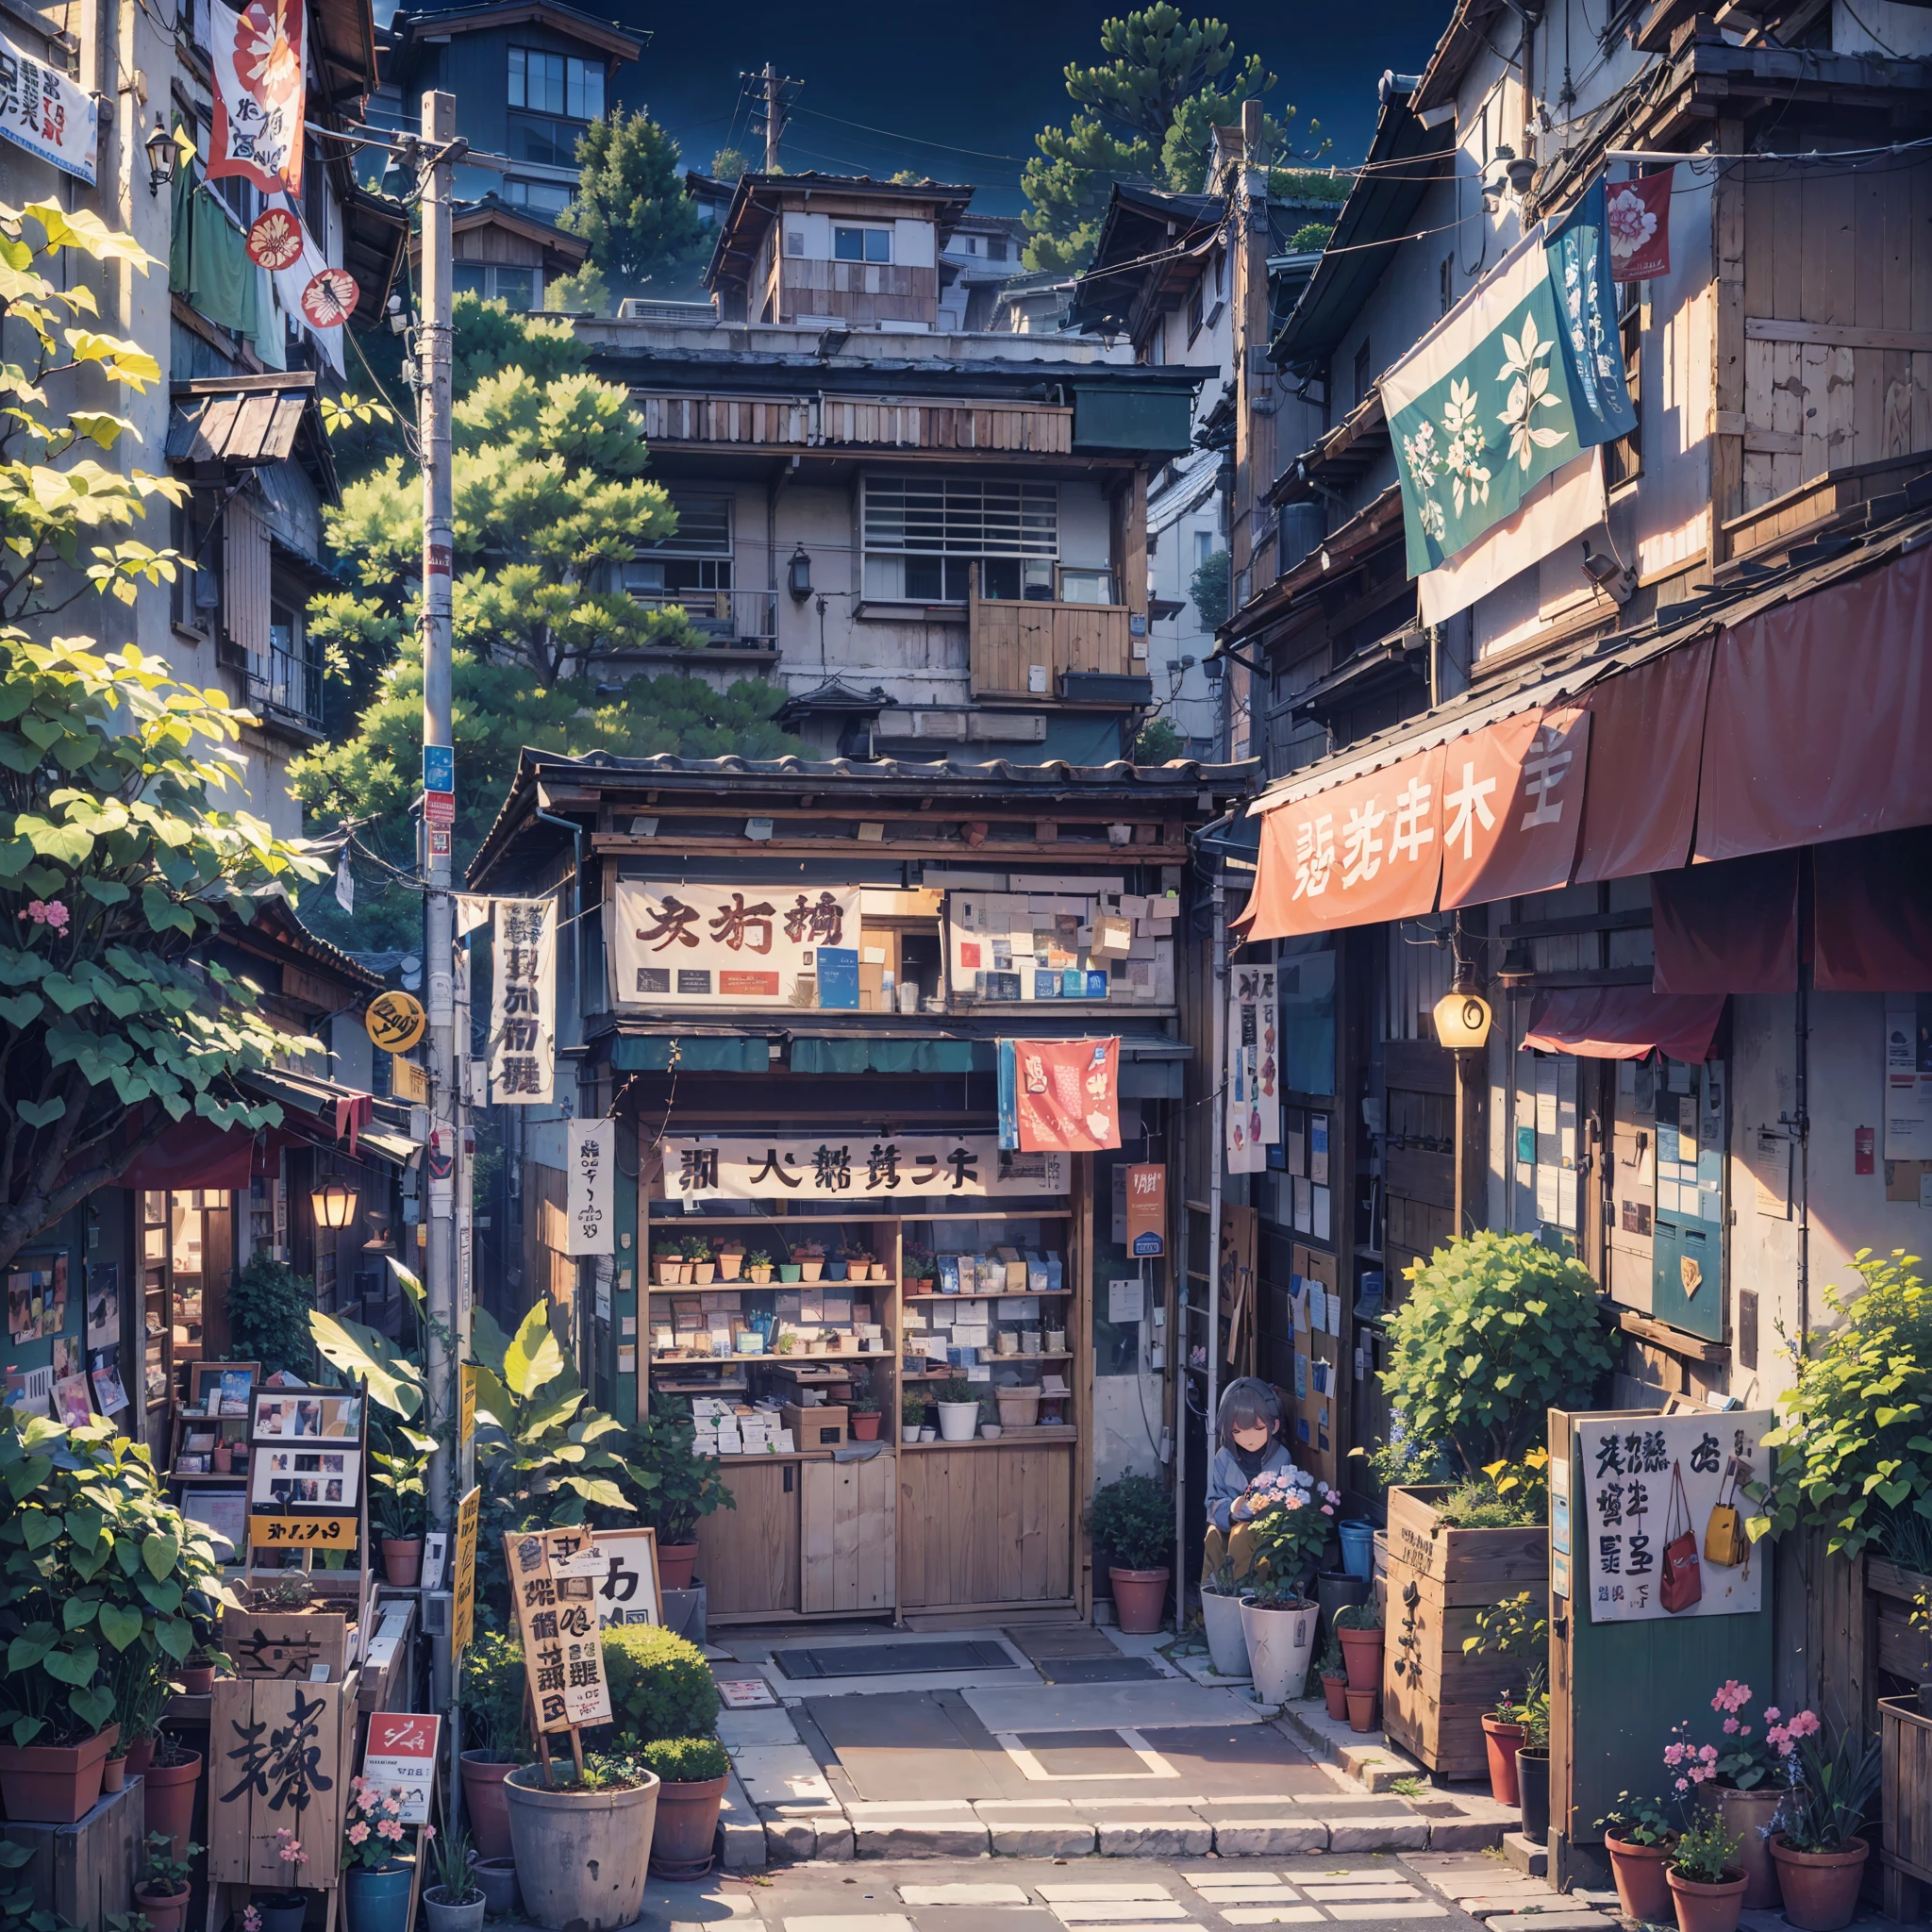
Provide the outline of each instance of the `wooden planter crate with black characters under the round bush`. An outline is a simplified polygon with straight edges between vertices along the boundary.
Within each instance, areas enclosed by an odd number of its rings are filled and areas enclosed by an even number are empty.
[[[1484,1777],[1482,1714],[1520,1689],[1522,1660],[1463,1654],[1476,1611],[1549,1594],[1549,1530],[1457,1530],[1435,1513],[1447,1488],[1389,1492],[1381,1723],[1445,1777]]]

